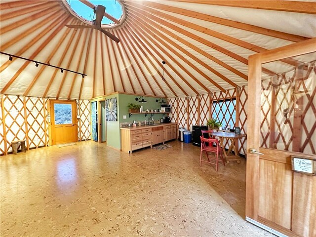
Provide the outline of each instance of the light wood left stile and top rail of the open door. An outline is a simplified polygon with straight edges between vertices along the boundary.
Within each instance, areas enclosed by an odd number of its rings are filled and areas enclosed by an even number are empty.
[[[258,217],[259,155],[250,154],[249,149],[260,148],[260,119],[255,118],[260,118],[262,64],[315,51],[316,38],[313,38],[249,56],[248,111],[254,116],[248,116],[247,120],[246,218],[257,221]]]

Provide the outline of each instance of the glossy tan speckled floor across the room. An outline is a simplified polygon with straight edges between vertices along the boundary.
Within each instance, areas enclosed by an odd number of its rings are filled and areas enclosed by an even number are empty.
[[[199,148],[132,155],[93,141],[0,157],[1,237],[272,236],[244,221],[245,161]]]

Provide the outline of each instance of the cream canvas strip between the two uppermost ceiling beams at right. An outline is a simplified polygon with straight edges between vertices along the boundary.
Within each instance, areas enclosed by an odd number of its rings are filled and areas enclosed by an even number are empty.
[[[216,6],[165,0],[159,0],[159,2],[271,30],[309,38],[316,37],[316,16],[313,14]],[[289,19],[291,20],[289,21]],[[302,22],[304,22],[304,27],[302,27]]]

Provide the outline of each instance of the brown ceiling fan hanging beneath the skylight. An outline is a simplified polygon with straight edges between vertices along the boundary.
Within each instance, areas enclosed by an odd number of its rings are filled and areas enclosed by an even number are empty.
[[[112,35],[110,32],[107,32],[101,28],[101,21],[102,21],[102,18],[104,16],[105,6],[97,5],[96,7],[94,7],[93,12],[95,13],[95,20],[93,20],[92,26],[79,26],[79,25],[66,25],[66,26],[69,28],[92,28],[92,29],[96,29],[98,31],[101,31],[106,36],[110,37],[112,40],[114,40],[118,43],[119,39],[115,35]]]

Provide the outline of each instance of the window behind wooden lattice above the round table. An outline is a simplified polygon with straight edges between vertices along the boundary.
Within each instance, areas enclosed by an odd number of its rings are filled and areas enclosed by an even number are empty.
[[[213,101],[212,117],[222,122],[223,128],[235,126],[236,121],[236,98]]]

